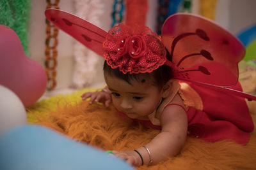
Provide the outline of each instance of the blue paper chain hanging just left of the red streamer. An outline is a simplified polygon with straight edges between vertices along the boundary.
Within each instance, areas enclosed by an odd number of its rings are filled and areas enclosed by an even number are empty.
[[[124,11],[124,0],[114,0],[113,12],[112,12],[112,25],[114,27],[123,21],[123,11]]]

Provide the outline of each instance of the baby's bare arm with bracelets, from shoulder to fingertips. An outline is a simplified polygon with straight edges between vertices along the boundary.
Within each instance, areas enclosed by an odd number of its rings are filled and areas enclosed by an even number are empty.
[[[179,95],[175,96],[173,103],[184,105]],[[157,162],[180,152],[187,136],[188,118],[186,111],[177,105],[167,106],[161,115],[161,127],[161,132],[145,145],[152,156],[152,164],[157,164]],[[144,164],[148,164],[150,157],[147,150],[144,147],[136,150],[143,157]],[[140,155],[134,151],[116,152],[116,155],[134,166],[141,166]]]

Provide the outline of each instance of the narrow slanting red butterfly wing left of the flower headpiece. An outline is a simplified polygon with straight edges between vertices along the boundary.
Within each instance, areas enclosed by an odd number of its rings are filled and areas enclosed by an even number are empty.
[[[62,31],[70,34],[93,52],[103,56],[102,43],[108,32],[65,11],[49,9],[45,10],[45,16]]]

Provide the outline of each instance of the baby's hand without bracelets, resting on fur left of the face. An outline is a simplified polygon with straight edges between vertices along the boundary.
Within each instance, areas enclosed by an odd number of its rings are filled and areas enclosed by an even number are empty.
[[[100,103],[104,103],[106,106],[109,106],[109,104],[112,101],[111,94],[109,94],[108,92],[104,92],[104,91],[86,92],[81,97],[83,100],[90,97],[91,98],[89,101],[90,104],[92,104],[93,102],[100,102]]]

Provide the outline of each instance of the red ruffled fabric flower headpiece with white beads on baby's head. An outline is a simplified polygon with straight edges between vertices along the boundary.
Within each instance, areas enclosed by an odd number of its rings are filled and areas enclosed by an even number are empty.
[[[119,24],[103,43],[104,58],[122,73],[150,73],[166,61],[163,43],[148,27]]]

